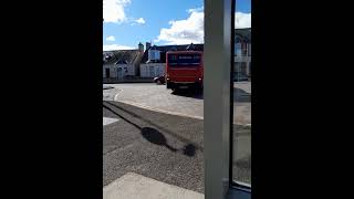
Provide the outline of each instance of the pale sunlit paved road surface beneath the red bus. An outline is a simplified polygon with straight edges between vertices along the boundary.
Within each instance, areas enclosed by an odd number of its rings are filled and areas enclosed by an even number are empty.
[[[188,90],[173,92],[166,85],[154,83],[106,84],[113,90],[104,91],[104,101],[117,101],[162,109],[166,112],[204,117],[202,93]],[[233,123],[251,124],[251,82],[233,84]]]

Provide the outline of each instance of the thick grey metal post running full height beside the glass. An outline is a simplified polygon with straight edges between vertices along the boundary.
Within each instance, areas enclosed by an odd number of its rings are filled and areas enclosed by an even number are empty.
[[[205,197],[229,188],[231,0],[205,0]]]

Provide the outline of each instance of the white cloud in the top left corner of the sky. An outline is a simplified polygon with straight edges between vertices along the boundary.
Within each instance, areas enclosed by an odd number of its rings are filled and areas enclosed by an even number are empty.
[[[124,7],[131,3],[131,0],[103,0],[103,19],[105,23],[122,23],[126,21]]]

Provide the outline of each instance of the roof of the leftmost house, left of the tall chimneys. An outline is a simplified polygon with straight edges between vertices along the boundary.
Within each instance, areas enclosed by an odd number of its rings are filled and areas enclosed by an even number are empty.
[[[104,51],[104,64],[129,64],[142,55],[139,50]]]

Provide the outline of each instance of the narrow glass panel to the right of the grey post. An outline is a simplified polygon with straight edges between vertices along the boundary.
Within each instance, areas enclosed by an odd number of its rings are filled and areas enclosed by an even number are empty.
[[[251,1],[236,0],[232,180],[251,184]]]

